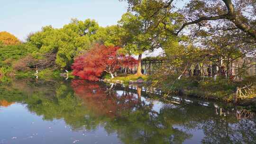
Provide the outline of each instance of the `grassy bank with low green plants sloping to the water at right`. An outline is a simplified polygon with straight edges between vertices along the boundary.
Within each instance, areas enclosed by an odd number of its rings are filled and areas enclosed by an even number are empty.
[[[230,81],[226,79],[203,79],[202,77],[183,77],[181,80],[177,80],[177,76],[168,76],[165,78],[153,77],[152,81],[152,87],[159,88],[167,94],[173,93],[204,99],[232,101],[233,96],[236,95],[236,88],[254,83],[256,77],[249,77],[244,81]],[[249,98],[254,97],[256,95],[251,95]]]

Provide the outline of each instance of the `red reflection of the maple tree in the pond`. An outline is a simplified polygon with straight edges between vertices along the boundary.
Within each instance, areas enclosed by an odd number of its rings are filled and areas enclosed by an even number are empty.
[[[100,116],[114,118],[123,114],[123,111],[131,111],[140,103],[136,95],[129,92],[119,95],[100,83],[73,80],[72,87],[83,104]]]

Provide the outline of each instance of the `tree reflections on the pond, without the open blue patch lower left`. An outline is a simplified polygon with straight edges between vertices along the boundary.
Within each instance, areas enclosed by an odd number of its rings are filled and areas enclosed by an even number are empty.
[[[117,135],[116,139],[123,144],[256,142],[256,119],[251,111],[222,108],[197,99],[174,97],[165,103],[148,99],[141,86],[129,89],[79,80],[37,84],[15,81],[0,85],[0,116],[1,108],[13,103],[25,104],[34,115],[50,122],[63,119],[72,130],[67,135],[92,132],[102,136],[98,131],[102,129]]]

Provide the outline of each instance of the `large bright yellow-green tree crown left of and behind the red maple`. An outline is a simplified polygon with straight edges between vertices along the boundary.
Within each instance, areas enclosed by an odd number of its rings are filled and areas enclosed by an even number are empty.
[[[72,19],[71,23],[57,29],[51,26],[28,37],[28,42],[36,45],[39,59],[44,55],[55,55],[55,63],[60,68],[70,68],[73,58],[88,50],[96,40],[99,25],[95,20],[79,21]]]

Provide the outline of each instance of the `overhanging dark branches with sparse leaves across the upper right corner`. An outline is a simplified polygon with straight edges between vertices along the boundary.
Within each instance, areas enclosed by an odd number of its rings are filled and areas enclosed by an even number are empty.
[[[148,12],[149,17],[155,17],[162,11],[179,13],[174,23],[180,23],[179,28],[170,29],[174,35],[182,33],[183,29],[190,34],[196,34],[203,30],[214,29],[233,31],[239,29],[244,41],[256,43],[256,1],[255,0],[189,0],[185,4],[177,6],[174,0],[127,0],[129,9],[140,14]],[[147,9],[141,9],[141,5],[147,5]],[[183,6],[183,7],[182,7]],[[176,9],[174,9],[176,8]],[[157,18],[161,23],[161,18]],[[212,22],[214,21],[214,22]]]

